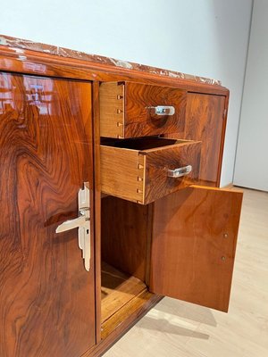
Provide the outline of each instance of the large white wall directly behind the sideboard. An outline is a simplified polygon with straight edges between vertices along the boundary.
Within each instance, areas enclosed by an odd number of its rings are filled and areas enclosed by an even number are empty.
[[[232,181],[252,0],[10,0],[0,33],[221,79],[230,88],[222,185]]]

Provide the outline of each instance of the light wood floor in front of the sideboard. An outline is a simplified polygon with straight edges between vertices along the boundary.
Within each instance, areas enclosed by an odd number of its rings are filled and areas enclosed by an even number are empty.
[[[164,298],[105,357],[268,356],[268,193],[245,190],[228,314]]]

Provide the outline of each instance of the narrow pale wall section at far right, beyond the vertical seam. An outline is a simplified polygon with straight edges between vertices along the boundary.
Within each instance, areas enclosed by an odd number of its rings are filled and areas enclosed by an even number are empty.
[[[268,1],[255,0],[234,182],[268,191]]]

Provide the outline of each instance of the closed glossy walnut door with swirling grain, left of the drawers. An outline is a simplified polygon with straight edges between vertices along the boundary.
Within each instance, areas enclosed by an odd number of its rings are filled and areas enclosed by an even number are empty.
[[[94,269],[77,229],[55,228],[93,185],[90,82],[0,73],[0,168],[0,355],[80,356],[95,344]]]

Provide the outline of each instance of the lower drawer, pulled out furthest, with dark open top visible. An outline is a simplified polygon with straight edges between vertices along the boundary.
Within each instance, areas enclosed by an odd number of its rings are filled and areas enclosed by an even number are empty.
[[[101,187],[107,195],[147,204],[198,183],[201,142],[161,137],[110,139],[100,151]],[[178,172],[184,176],[176,178]]]

